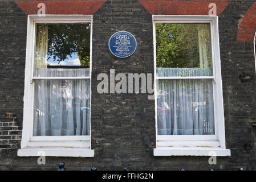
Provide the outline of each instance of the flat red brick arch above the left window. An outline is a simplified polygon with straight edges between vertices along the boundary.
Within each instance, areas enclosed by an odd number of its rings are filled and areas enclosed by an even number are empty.
[[[46,5],[46,14],[94,14],[106,1],[15,1],[27,14],[38,14],[39,3]]]

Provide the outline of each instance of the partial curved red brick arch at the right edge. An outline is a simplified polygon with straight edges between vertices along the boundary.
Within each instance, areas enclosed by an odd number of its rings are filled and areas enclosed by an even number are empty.
[[[238,27],[237,41],[254,41],[256,32],[256,2],[246,12]]]

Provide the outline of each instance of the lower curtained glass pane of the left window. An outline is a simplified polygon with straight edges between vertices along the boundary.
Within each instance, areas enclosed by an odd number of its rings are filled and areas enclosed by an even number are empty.
[[[90,80],[35,80],[34,136],[90,135]]]

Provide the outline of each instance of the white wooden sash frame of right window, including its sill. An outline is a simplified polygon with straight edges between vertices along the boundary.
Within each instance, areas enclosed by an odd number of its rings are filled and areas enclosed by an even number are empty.
[[[226,149],[224,127],[224,105],[222,96],[220,46],[218,35],[218,16],[198,15],[152,15],[153,20],[153,44],[154,44],[154,68],[155,68],[155,93],[157,93],[157,80],[162,79],[211,79],[213,80],[214,101],[214,135],[157,135],[157,94],[155,94],[155,118],[156,118],[156,148],[155,156],[194,155],[211,156],[210,151],[217,156],[230,156],[230,150]],[[210,23],[212,39],[212,65],[213,76],[201,77],[159,77],[156,74],[156,23]]]

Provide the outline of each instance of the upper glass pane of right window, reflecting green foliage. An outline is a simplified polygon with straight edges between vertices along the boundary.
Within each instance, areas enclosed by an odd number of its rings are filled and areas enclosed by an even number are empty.
[[[158,76],[213,76],[210,23],[156,23]]]

